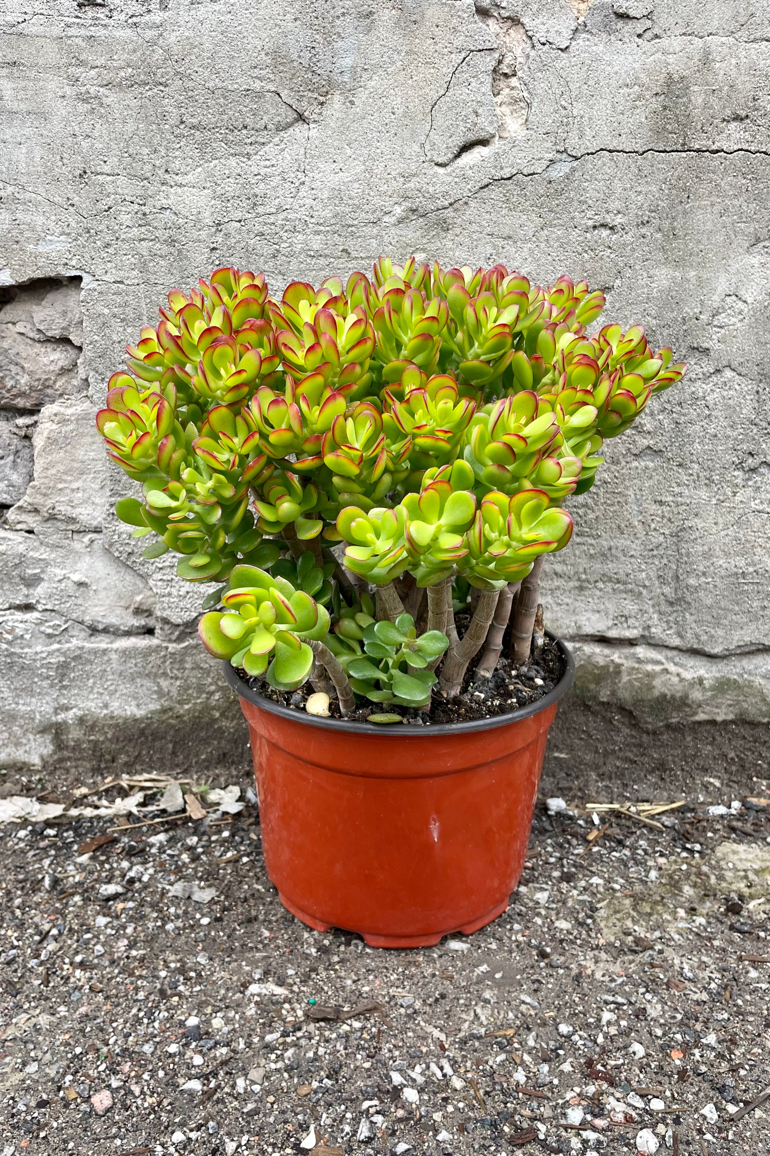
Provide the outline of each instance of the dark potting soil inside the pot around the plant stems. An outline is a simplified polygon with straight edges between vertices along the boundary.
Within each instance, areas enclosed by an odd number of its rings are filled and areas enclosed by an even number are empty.
[[[457,615],[457,628],[462,633],[468,625],[469,616]],[[546,638],[539,654],[531,655],[524,666],[516,666],[503,655],[508,652],[510,629],[503,638],[503,650],[498,668],[491,679],[477,677],[476,667],[481,660],[484,647],[471,660],[465,672],[463,689],[456,698],[447,699],[433,688],[429,711],[414,710],[409,706],[397,706],[395,703],[360,703],[358,709],[347,717],[351,722],[366,722],[371,714],[401,714],[403,721],[411,726],[431,726],[448,722],[472,722],[477,719],[494,718],[498,714],[509,714],[521,706],[529,706],[547,695],[565,673],[566,664],[555,642]],[[440,674],[440,667],[436,674]],[[241,680],[255,694],[270,698],[289,710],[304,711],[308,697],[313,694],[311,682],[294,691],[278,691],[261,677],[249,677],[239,670]],[[336,698],[329,703],[331,718],[341,718]],[[381,724],[377,724],[381,725]],[[395,725],[395,724],[394,724]]]

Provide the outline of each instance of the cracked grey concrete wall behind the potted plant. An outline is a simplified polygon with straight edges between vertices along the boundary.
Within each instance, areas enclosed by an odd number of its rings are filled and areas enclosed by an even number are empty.
[[[381,252],[585,276],[690,363],[574,501],[547,617],[589,702],[770,718],[768,0],[40,7],[0,16],[0,764],[242,758],[92,414],[170,287]]]

